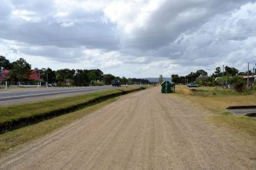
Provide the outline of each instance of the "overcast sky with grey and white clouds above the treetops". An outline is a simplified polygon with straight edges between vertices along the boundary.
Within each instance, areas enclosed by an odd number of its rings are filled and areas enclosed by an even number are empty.
[[[0,2],[0,55],[32,67],[143,78],[256,63],[256,0]]]

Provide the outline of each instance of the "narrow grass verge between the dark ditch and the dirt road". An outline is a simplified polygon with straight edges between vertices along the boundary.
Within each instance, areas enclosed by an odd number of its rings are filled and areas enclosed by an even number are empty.
[[[79,120],[84,116],[89,116],[95,110],[98,110],[101,107],[112,103],[113,101],[116,101],[116,98],[108,99],[106,101],[103,101],[102,103],[98,103],[91,107],[86,107],[85,109],[77,110],[69,114],[64,114],[62,116],[45,120],[43,122],[33,124],[32,126],[22,127],[20,129],[1,134],[0,158],[5,156],[6,154],[15,152],[15,150],[18,150],[20,146],[22,146],[22,144],[27,143],[28,141],[38,139],[39,137],[42,137],[47,133],[51,133],[52,131],[59,129],[60,127],[71,124],[75,120]]]

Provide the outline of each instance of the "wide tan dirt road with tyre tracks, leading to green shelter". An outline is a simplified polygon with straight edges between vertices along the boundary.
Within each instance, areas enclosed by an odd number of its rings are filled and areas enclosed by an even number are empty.
[[[0,169],[256,169],[253,137],[212,124],[210,114],[159,88],[131,93],[0,160]]]

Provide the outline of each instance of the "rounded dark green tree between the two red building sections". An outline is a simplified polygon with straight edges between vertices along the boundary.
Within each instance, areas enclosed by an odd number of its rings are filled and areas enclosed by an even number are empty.
[[[26,61],[26,59],[20,58],[12,62],[10,74],[12,80],[18,80],[20,82],[22,80],[29,79],[31,74],[31,65]]]

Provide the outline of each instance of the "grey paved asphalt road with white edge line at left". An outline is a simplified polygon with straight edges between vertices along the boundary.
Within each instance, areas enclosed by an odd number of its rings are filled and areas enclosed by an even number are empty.
[[[14,90],[0,90],[0,101],[59,95],[63,93],[93,92],[109,88],[112,88],[112,86],[89,86],[80,88],[20,88]]]

